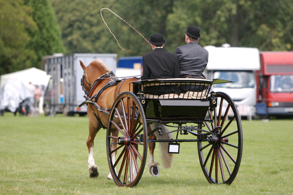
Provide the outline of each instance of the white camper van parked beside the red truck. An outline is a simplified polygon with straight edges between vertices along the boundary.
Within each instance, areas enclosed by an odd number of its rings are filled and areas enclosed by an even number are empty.
[[[251,115],[255,113],[256,104],[255,70],[260,70],[258,49],[215,46],[204,48],[209,52],[209,62],[203,73],[205,77],[209,80],[234,81],[215,84],[211,91],[225,92],[231,96],[238,107],[239,114],[251,119]]]

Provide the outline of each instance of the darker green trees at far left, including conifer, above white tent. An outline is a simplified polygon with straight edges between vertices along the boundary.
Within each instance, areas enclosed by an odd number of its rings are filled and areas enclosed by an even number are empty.
[[[48,0],[0,0],[0,75],[40,67],[42,56],[64,52]]]

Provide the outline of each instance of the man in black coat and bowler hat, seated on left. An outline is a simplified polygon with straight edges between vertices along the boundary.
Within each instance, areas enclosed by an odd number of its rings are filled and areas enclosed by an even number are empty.
[[[153,51],[142,56],[143,75],[142,80],[159,79],[159,78],[180,78],[179,59],[176,54],[173,54],[163,48],[166,41],[161,34],[152,34],[149,40]],[[150,91],[159,91],[159,94],[169,94],[169,90],[164,89],[145,89],[148,94]],[[165,92],[163,92],[165,91]],[[179,90],[178,90],[179,92]],[[173,92],[171,92],[173,93]]]

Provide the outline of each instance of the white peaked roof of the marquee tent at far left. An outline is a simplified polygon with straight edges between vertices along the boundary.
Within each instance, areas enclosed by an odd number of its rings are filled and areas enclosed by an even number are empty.
[[[21,80],[25,85],[28,85],[28,83],[31,82],[34,85],[44,85],[47,87],[50,77],[51,75],[47,75],[47,73],[43,70],[38,68],[28,68],[14,73],[1,75],[0,89],[4,86],[8,79]]]

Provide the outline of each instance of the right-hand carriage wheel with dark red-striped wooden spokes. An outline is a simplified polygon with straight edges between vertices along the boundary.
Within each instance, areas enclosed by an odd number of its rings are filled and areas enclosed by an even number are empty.
[[[242,156],[241,118],[229,95],[216,92],[215,97],[218,98],[218,107],[212,113],[214,122],[205,122],[206,127],[203,127],[215,134],[209,135],[209,142],[197,143],[198,155],[202,170],[210,183],[230,185],[237,175]],[[211,118],[210,111],[208,115]]]

